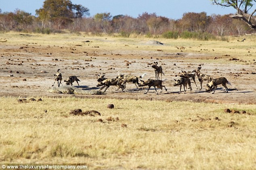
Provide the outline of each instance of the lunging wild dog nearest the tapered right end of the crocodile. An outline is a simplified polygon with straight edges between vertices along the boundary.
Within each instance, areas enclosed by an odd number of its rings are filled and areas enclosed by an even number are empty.
[[[98,79],[99,80],[99,79]],[[98,81],[97,80],[97,81]],[[123,79],[120,78],[111,78],[111,79],[105,79],[103,81],[98,81],[97,87],[102,86],[99,91],[101,91],[103,88],[105,88],[104,92],[109,88],[109,86],[117,86],[118,89],[122,89],[121,92],[125,90],[126,82]],[[117,89],[117,90],[118,90]]]

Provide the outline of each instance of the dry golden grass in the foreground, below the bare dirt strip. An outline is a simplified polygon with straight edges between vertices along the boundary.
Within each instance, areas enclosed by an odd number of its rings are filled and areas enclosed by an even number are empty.
[[[253,170],[256,166],[256,105],[18,99],[0,98],[0,162],[89,163],[90,169]],[[107,109],[107,104],[114,104],[114,109]],[[224,113],[225,108],[247,114]],[[96,110],[102,116],[72,116],[69,112],[74,109]],[[113,121],[107,121],[109,117]]]

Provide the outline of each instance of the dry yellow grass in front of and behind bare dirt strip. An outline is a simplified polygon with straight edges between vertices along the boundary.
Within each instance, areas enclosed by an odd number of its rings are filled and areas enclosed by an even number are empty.
[[[15,57],[37,57],[42,49],[50,46],[55,50],[52,57],[61,59],[84,59],[84,51],[90,50],[88,58],[93,57],[91,51],[103,57],[122,51],[122,56],[117,56],[120,60],[144,57],[143,62],[146,62],[150,58],[149,53],[151,56],[157,53],[157,57],[164,55],[165,59],[176,62],[178,59],[174,57],[175,54],[182,52],[193,53],[183,58],[184,63],[196,66],[206,63],[212,70],[219,63],[228,68],[235,64],[247,66],[247,63],[255,62],[252,59],[255,59],[256,53],[256,38],[253,36],[246,36],[244,42],[237,41],[244,37],[229,37],[227,42],[93,37],[83,33],[37,35],[10,32],[2,33],[1,38],[8,40],[3,45],[4,56],[15,54]],[[90,43],[83,43],[87,40]],[[161,41],[165,45],[147,45],[149,40]],[[35,48],[29,52],[19,50],[25,45]],[[99,48],[94,48],[97,46]],[[17,51],[9,53],[8,50],[12,48]],[[71,48],[76,49],[73,50],[75,53],[71,53]],[[42,54],[44,57],[48,53],[45,51]],[[143,54],[141,51],[149,52]],[[225,63],[231,57],[246,60],[247,63]],[[255,70],[254,65],[251,67],[251,70]],[[180,68],[175,69],[180,71]],[[84,71],[80,72],[84,74]],[[18,99],[0,97],[1,163],[88,163],[91,169],[254,170],[256,167],[255,104],[74,97],[42,97],[43,101],[27,98],[27,102],[19,102]],[[107,104],[114,104],[114,109],[107,109]],[[226,108],[245,110],[247,114],[224,113]],[[74,109],[96,110],[102,116],[70,115],[70,110]],[[112,121],[107,121],[109,117],[113,118]],[[116,117],[119,121],[116,121]],[[103,123],[98,119],[102,119]],[[127,127],[121,127],[122,124]]]

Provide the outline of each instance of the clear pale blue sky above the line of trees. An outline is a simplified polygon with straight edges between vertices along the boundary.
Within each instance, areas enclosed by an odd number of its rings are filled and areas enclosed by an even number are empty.
[[[45,0],[0,0],[2,12],[23,10],[35,15],[35,10],[42,8]],[[71,0],[72,4],[80,4],[89,9],[90,16],[97,13],[110,12],[112,16],[128,15],[137,18],[143,12],[156,13],[170,19],[181,19],[186,12],[206,12],[212,14],[235,13],[231,7],[212,5],[211,0]]]

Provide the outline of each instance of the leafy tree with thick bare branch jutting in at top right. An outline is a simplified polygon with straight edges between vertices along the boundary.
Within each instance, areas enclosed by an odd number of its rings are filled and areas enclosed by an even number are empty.
[[[254,9],[251,13],[249,10],[255,5],[256,0],[212,0],[213,4],[233,7],[237,11],[232,18],[245,22],[253,30],[256,30],[256,18],[253,16],[256,12]]]

